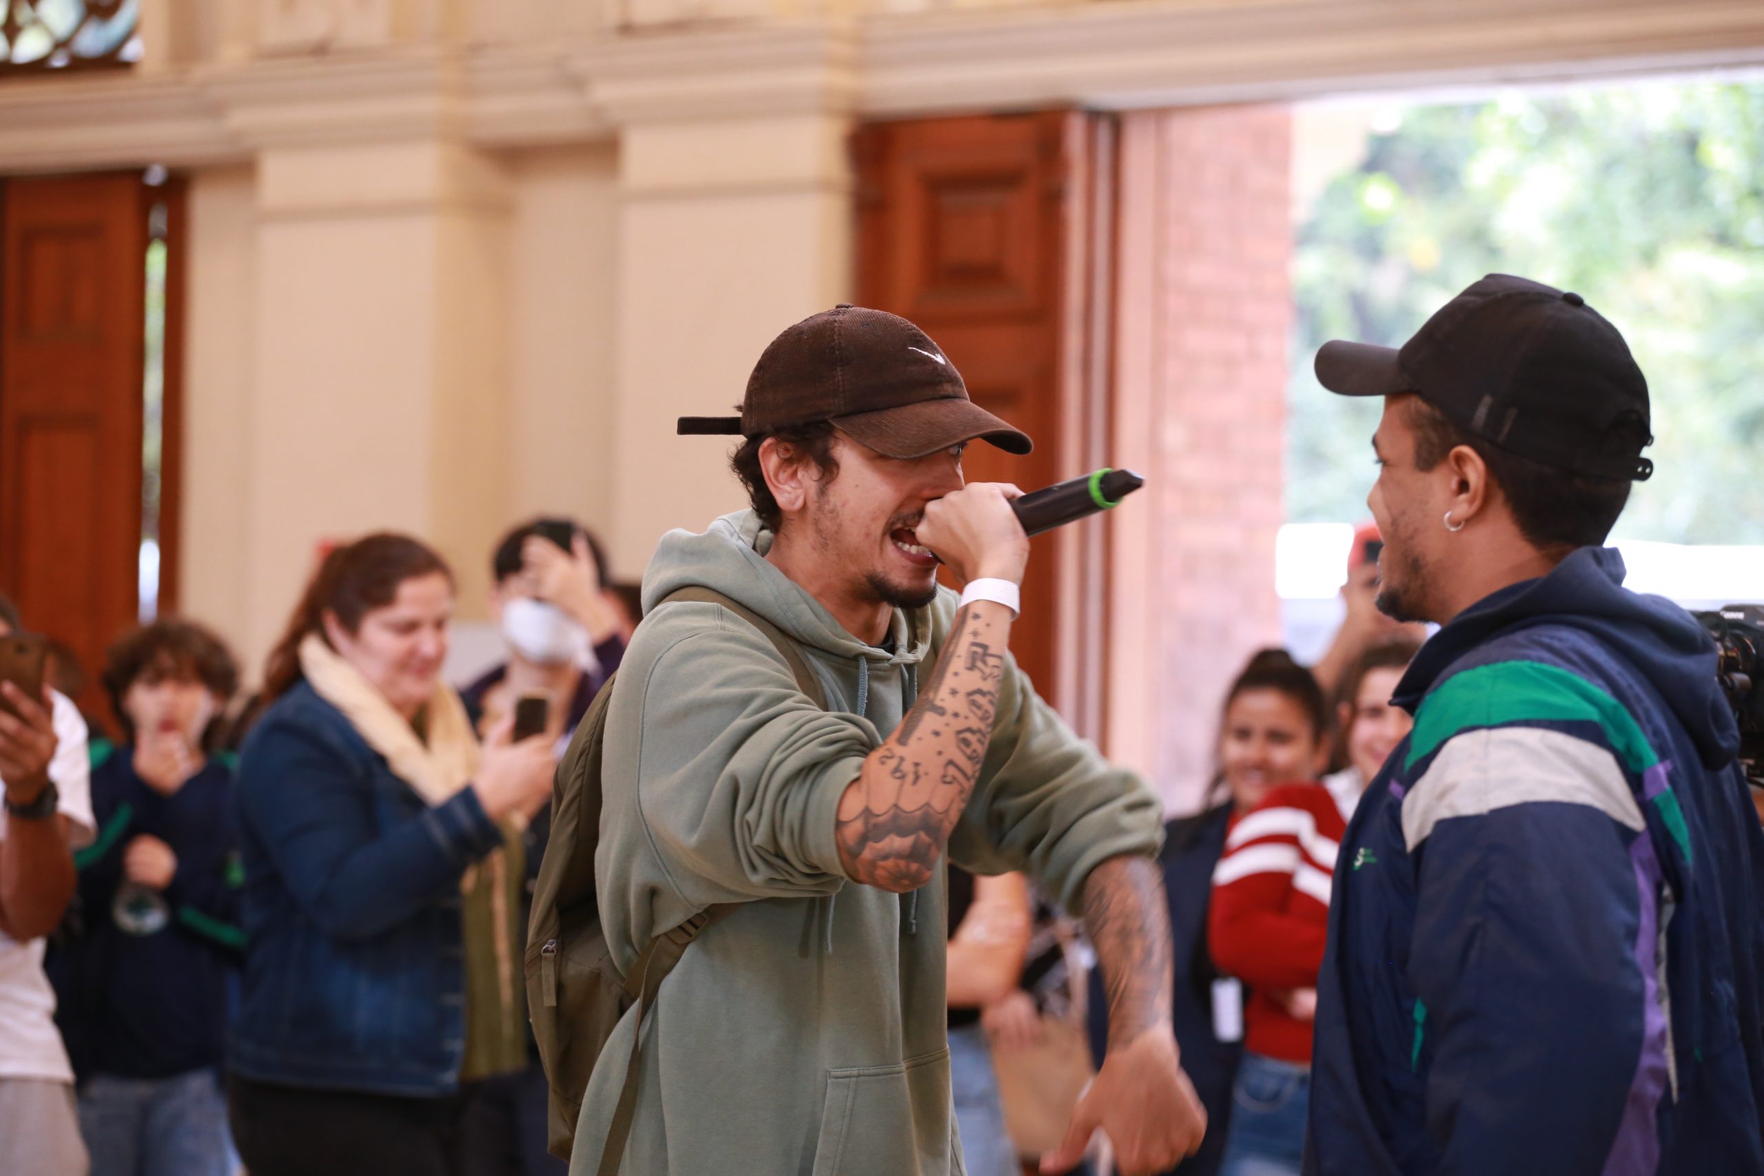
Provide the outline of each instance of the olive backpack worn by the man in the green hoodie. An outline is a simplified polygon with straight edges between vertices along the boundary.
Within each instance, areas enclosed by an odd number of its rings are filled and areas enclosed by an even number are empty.
[[[797,689],[826,709],[827,696],[815,670],[796,642],[778,626],[743,608],[721,592],[686,587],[667,599],[721,605],[755,629],[783,656],[796,675]],[[600,770],[607,742],[607,709],[617,674],[594,695],[593,705],[570,739],[570,749],[557,765],[552,788],[552,830],[533,889],[533,917],[527,924],[526,979],[527,1016],[533,1040],[550,1084],[547,1107],[547,1150],[570,1158],[575,1123],[582,1114],[587,1079],[612,1028],[637,1005],[637,1033],[624,1072],[624,1088],[607,1128],[600,1176],[614,1176],[624,1155],[637,1104],[637,1058],[642,1023],[649,1016],[656,989],[679,963],[681,954],[711,924],[736,908],[734,903],[707,906],[686,922],[649,942],[637,956],[630,975],[621,975],[600,926],[594,894],[594,852],[600,848]]]

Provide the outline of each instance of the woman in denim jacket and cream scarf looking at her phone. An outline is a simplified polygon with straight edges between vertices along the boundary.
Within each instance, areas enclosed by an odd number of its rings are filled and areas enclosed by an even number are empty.
[[[252,1176],[445,1176],[460,1081],[526,1063],[519,830],[552,749],[508,723],[480,749],[441,682],[452,608],[439,555],[370,534],[270,654],[238,770],[229,1104]]]

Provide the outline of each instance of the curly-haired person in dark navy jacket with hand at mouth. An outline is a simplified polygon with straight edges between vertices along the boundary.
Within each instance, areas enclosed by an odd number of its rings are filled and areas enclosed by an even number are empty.
[[[217,1070],[238,968],[231,760],[210,756],[238,665],[208,629],[157,621],[116,642],[104,688],[125,732],[92,744],[99,837],[48,971],[79,1079],[93,1176],[226,1176]]]

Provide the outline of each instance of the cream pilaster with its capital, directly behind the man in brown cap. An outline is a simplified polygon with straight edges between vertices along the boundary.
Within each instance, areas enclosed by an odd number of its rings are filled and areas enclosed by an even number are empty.
[[[776,63],[764,83],[753,53]],[[691,60],[681,76],[621,44],[586,65],[621,127],[610,517],[633,571],[669,527],[746,504],[732,439],[676,437],[674,418],[734,411],[766,344],[850,287],[845,33],[707,35]]]

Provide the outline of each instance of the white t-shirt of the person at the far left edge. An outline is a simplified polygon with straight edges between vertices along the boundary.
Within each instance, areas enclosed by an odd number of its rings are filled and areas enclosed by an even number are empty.
[[[72,822],[74,848],[92,845],[92,765],[86,758],[86,721],[62,695],[55,695],[55,760],[49,779],[60,793],[56,808]],[[0,841],[7,811],[0,808]],[[0,931],[0,1077],[44,1077],[72,1083],[67,1047],[55,1028],[55,989],[42,975],[42,940],[19,943]]]

